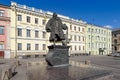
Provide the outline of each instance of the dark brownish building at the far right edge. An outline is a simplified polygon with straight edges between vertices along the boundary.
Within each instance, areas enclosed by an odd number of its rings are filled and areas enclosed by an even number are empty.
[[[120,52],[120,29],[112,31],[112,51]]]

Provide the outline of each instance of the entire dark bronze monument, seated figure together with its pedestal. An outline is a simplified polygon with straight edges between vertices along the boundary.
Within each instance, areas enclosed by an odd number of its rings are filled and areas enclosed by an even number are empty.
[[[66,30],[67,34],[64,34]],[[47,22],[46,31],[50,32],[49,41],[54,45],[48,46],[49,52],[45,60],[49,66],[69,66],[69,48],[67,46],[68,28],[62,23],[62,20],[54,13],[53,17]],[[55,45],[56,42],[62,42],[62,45]]]

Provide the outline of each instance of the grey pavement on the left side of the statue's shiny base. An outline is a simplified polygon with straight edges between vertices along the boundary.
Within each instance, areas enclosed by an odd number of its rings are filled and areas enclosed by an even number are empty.
[[[0,59],[0,65],[6,64],[6,63],[12,63],[16,60],[19,60],[21,65],[16,68],[17,74],[14,77],[12,77],[10,80],[27,80],[26,79],[27,63],[44,61],[44,58]]]

